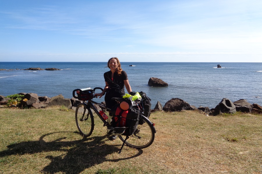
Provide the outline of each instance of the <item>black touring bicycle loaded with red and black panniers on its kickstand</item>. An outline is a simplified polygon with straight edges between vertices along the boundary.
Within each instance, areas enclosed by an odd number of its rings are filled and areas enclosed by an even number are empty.
[[[148,119],[151,99],[143,92],[136,93],[135,97],[126,94],[125,98],[112,98],[118,104],[109,109],[105,105],[92,100],[97,89],[103,90],[99,87],[73,90],[73,97],[82,101],[75,110],[75,121],[80,134],[83,137],[92,134],[95,126],[94,115],[91,111],[93,109],[94,113],[104,123],[103,126],[107,127],[107,134],[118,135],[123,142],[119,153],[121,153],[124,144],[138,149],[150,146],[156,133],[155,124]],[[98,111],[94,104],[98,105],[101,110]],[[105,110],[111,111],[111,120],[104,113]]]

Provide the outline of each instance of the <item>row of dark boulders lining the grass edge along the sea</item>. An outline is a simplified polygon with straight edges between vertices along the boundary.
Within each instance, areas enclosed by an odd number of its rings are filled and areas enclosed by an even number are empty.
[[[57,95],[54,97],[39,97],[35,93],[19,93],[19,95],[24,95],[22,99],[27,99],[26,101],[21,101],[18,106],[12,105],[11,107],[19,107],[19,108],[45,108],[48,106],[65,106],[69,109],[75,110],[77,105],[79,103],[82,103],[82,101],[79,101],[78,99],[75,99],[72,97],[64,98],[63,95]],[[5,96],[0,95],[0,108],[3,107],[3,105],[6,105],[8,102],[8,98],[5,98]],[[98,110],[100,110],[99,106],[95,106]],[[221,100],[221,102],[212,109],[209,109],[208,107],[199,106],[198,108],[196,106],[190,105],[189,103],[185,102],[182,99],[179,98],[172,98],[168,102],[165,103],[164,107],[162,107],[162,104],[158,101],[155,105],[154,109],[151,109],[151,112],[155,111],[165,111],[165,112],[176,112],[181,110],[195,110],[200,113],[203,113],[205,115],[218,115],[220,113],[236,113],[236,111],[244,112],[244,113],[259,113],[262,114],[262,107],[256,103],[250,104],[245,99],[240,99],[235,102],[231,102],[229,99],[224,98]]]

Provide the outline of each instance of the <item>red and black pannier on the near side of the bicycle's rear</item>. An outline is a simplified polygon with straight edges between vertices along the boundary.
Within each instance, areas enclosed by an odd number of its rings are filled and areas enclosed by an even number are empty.
[[[120,108],[120,104],[112,107],[111,113],[113,115],[111,126],[113,127],[128,127],[122,135],[129,136],[136,131],[139,121],[139,109],[130,107],[128,110]]]

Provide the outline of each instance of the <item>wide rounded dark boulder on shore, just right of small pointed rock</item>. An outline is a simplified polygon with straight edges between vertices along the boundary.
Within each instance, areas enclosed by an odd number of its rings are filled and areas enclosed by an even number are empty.
[[[190,104],[179,98],[172,98],[163,107],[164,111],[169,111],[169,112],[189,110],[189,109],[190,109]]]

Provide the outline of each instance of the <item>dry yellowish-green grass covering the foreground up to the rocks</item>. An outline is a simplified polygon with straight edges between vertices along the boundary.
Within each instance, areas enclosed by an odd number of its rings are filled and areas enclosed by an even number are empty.
[[[109,141],[95,119],[82,138],[74,111],[0,109],[0,173],[262,173],[262,116],[156,112],[145,149]]]

